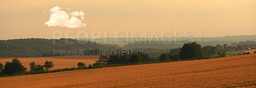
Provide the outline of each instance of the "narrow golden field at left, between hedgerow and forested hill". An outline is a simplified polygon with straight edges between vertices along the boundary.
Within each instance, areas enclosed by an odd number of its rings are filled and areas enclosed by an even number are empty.
[[[83,62],[85,65],[95,63],[95,60],[99,59],[99,56],[54,56],[54,57],[36,57],[36,58],[18,58],[22,65],[29,69],[29,63],[35,61],[36,65],[44,65],[45,61],[52,61],[54,63],[54,69],[56,68],[70,68],[77,67],[78,62]],[[6,61],[12,61],[12,58],[0,58],[0,63],[6,63]]]

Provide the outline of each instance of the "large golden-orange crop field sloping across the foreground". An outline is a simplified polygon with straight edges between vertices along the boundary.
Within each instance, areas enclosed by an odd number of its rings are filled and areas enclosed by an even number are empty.
[[[256,87],[256,54],[3,77],[0,78],[0,85],[1,87]]]

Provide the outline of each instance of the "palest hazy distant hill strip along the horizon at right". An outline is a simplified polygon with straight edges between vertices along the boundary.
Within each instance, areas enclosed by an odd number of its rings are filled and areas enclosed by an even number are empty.
[[[256,35],[227,35],[225,37],[202,37],[200,41],[232,41],[232,42],[240,42],[240,41],[256,41]],[[197,37],[157,37],[157,38],[100,38],[100,39],[78,39],[78,40],[89,40],[93,42],[106,43],[106,42],[132,42],[132,41],[198,41]]]

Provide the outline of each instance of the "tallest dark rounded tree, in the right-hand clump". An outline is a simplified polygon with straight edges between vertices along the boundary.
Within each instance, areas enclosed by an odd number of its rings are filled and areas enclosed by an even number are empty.
[[[204,53],[200,44],[196,42],[185,43],[180,50],[181,59],[203,58]]]

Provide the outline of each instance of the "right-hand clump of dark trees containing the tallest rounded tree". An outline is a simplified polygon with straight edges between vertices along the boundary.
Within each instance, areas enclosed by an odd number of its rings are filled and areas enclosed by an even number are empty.
[[[196,42],[185,43],[184,46],[178,49],[170,49],[169,53],[163,53],[159,56],[159,61],[177,61],[188,59],[204,59],[225,57],[225,51],[220,44],[216,46],[204,46]]]

